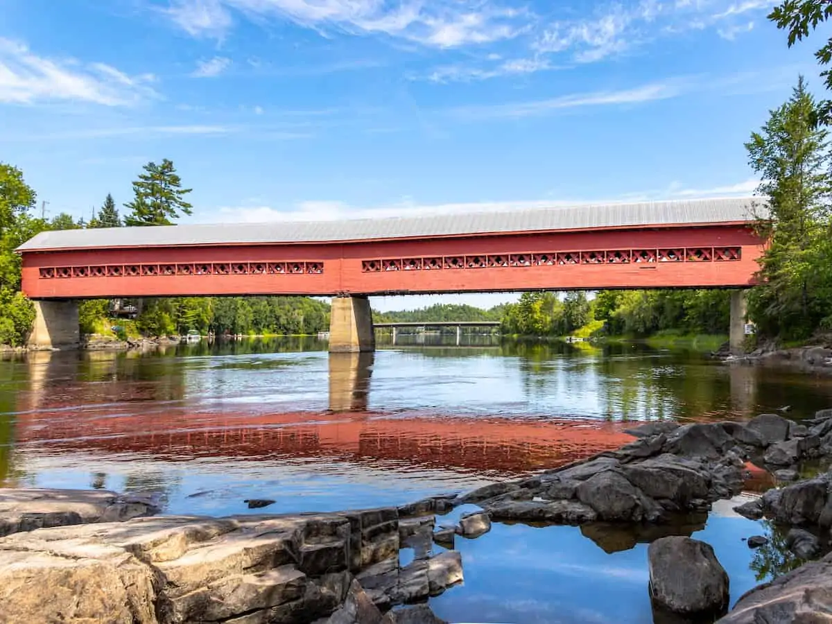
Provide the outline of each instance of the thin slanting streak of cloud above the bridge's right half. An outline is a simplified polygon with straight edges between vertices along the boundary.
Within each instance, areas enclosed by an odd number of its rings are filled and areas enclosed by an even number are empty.
[[[488,119],[499,117],[528,117],[538,116],[570,108],[585,108],[594,106],[620,106],[654,102],[678,97],[685,90],[685,83],[681,80],[654,82],[651,84],[624,89],[621,91],[602,91],[575,93],[547,100],[532,100],[528,102],[512,102],[508,104],[493,104],[484,106],[461,106],[452,109],[452,113],[463,119]]]

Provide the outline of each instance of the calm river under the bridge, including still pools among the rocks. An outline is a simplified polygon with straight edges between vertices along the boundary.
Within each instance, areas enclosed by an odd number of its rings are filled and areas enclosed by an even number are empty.
[[[280,338],[4,359],[0,484],[152,490],[166,513],[250,513],[247,498],[275,499],[257,513],[378,507],[617,447],[634,421],[832,406],[832,379],[686,351],[448,340],[399,336],[338,356]],[[735,600],[795,562],[776,543],[745,547],[781,536],[730,507],[673,530],[711,543]],[[651,622],[652,537],[497,524],[458,539],[464,586],[431,603],[450,622]]]

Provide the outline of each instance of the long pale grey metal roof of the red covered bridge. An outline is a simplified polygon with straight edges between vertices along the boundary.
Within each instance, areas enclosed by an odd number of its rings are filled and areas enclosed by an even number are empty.
[[[427,236],[747,223],[765,215],[759,197],[557,206],[501,212],[217,225],[166,225],[42,232],[17,250],[176,245],[274,245]]]

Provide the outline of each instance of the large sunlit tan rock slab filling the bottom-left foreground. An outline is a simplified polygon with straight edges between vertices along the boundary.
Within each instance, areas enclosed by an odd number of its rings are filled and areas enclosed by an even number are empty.
[[[91,504],[109,500],[99,493]],[[344,606],[334,622],[349,622],[353,612],[376,613],[363,589],[350,589],[352,575],[384,561],[398,567],[398,555],[396,508],[17,532],[0,539],[0,621],[304,624]],[[434,558],[418,562],[420,598],[461,577],[458,553]]]

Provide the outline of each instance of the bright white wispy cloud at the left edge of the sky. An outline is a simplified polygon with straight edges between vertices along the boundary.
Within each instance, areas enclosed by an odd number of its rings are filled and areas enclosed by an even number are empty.
[[[101,62],[37,56],[25,44],[0,37],[0,102],[92,102],[126,106],[157,97],[151,74],[128,76]]]

